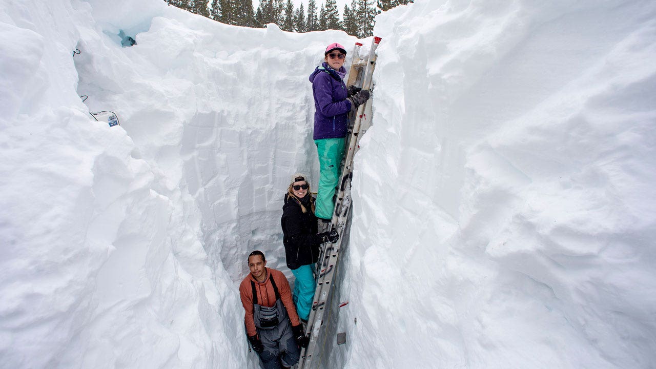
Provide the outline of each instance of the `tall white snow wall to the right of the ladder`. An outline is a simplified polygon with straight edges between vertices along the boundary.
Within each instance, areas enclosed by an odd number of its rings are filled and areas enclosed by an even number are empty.
[[[656,3],[417,0],[375,34],[347,367],[654,368]]]

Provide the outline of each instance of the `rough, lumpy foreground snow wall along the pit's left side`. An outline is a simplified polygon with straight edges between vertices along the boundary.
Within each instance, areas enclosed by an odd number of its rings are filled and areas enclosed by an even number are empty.
[[[90,119],[76,91],[76,47],[81,69],[108,68],[105,95],[135,87],[108,22],[147,30],[140,17],[167,9],[114,3],[100,25],[96,5],[0,6],[0,367],[243,367],[245,351],[223,348],[241,343],[242,324],[222,313],[239,307],[234,286],[207,263],[184,181],[121,127]],[[131,121],[120,103],[96,104]]]

